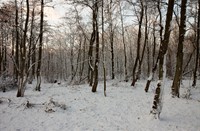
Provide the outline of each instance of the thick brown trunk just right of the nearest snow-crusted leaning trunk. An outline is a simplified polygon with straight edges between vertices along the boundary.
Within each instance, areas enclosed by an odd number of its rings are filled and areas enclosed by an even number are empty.
[[[187,0],[182,0],[181,2],[181,23],[179,27],[179,43],[178,52],[176,56],[176,72],[172,84],[172,96],[179,97],[180,93],[180,82],[182,79],[182,65],[183,65],[183,42],[185,35],[185,21],[186,21],[186,4]]]

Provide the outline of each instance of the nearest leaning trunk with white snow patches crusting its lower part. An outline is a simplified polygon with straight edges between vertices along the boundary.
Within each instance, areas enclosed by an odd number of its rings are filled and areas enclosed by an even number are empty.
[[[162,92],[163,92],[163,72],[164,72],[164,58],[166,59],[166,52],[168,48],[169,43],[169,37],[170,37],[170,23],[172,20],[173,15],[173,8],[174,8],[174,0],[168,1],[168,9],[167,9],[167,17],[166,17],[166,25],[165,25],[165,34],[164,34],[164,40],[161,43],[161,47],[159,50],[159,82],[156,88],[154,100],[153,100],[153,106],[151,113],[155,116],[158,115],[158,118],[160,116],[161,110],[162,110]],[[155,117],[156,118],[156,117]]]

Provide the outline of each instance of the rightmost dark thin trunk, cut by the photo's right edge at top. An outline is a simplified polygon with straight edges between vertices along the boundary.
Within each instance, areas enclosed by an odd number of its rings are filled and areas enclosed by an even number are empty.
[[[199,10],[198,10],[198,23],[197,23],[197,40],[196,40],[196,62],[195,62],[195,68],[194,68],[194,74],[193,74],[193,83],[192,86],[196,86],[197,81],[197,69],[198,69],[198,63],[199,62],[199,39],[200,39],[200,0],[198,0],[199,3]],[[199,66],[200,68],[200,66]]]

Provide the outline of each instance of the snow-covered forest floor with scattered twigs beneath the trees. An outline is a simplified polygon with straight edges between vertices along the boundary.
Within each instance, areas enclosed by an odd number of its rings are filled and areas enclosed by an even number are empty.
[[[181,96],[191,81],[184,81]],[[191,99],[172,98],[171,81],[165,85],[160,120],[150,115],[156,82],[148,93],[145,81],[108,81],[107,97],[100,83],[96,93],[85,85],[28,85],[25,97],[0,92],[0,131],[200,131],[200,83]],[[26,107],[29,101],[29,108]]]

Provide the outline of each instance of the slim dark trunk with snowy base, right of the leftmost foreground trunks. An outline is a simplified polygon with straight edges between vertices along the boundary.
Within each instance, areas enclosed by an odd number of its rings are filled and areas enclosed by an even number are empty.
[[[43,17],[44,17],[44,1],[41,0],[41,15],[40,15],[40,40],[39,40],[39,56],[38,56],[38,66],[37,66],[37,85],[35,90],[41,90],[41,63],[42,63],[42,40],[43,40]]]

